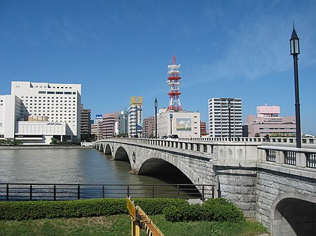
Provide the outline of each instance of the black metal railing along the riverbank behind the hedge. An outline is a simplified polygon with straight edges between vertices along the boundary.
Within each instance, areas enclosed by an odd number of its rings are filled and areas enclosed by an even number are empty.
[[[0,201],[80,200],[89,198],[206,198],[214,186],[196,184],[67,184],[0,183]]]

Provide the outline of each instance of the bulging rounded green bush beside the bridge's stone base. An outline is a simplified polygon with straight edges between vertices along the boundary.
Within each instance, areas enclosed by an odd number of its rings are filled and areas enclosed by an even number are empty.
[[[244,213],[234,203],[224,198],[206,200],[203,204],[184,204],[164,208],[167,221],[244,221]]]

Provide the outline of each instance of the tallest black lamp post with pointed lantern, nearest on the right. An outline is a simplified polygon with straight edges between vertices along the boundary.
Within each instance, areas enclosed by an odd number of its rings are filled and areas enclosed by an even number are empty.
[[[290,39],[291,55],[294,60],[294,85],[295,85],[295,116],[296,116],[296,148],[301,148],[301,112],[300,95],[298,90],[298,54],[300,54],[300,41],[296,34],[294,25]]]

